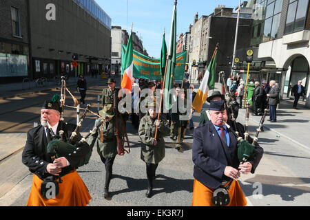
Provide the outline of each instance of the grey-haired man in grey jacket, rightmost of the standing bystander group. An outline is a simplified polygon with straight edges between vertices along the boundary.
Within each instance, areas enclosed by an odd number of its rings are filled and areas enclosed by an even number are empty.
[[[277,104],[280,102],[279,100],[279,93],[280,89],[279,87],[276,86],[276,81],[275,80],[270,80],[269,86],[271,87],[269,94],[267,94],[268,97],[268,104],[269,104],[269,120],[270,122],[277,122],[277,111],[276,107]]]

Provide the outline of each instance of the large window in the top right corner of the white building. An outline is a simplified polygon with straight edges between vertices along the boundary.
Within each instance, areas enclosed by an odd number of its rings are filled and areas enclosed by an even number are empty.
[[[309,0],[290,0],[287,9],[285,34],[304,30]]]

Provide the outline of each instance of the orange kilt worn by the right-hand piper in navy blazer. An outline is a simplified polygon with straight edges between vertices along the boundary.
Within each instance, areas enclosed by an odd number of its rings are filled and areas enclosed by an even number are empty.
[[[225,186],[227,185],[228,183]],[[214,206],[212,203],[213,192],[214,190],[203,185],[197,179],[194,179],[192,206]],[[245,199],[245,195],[243,194],[238,181],[232,181],[228,190],[228,194],[230,202],[227,206],[247,205],[247,199]]]

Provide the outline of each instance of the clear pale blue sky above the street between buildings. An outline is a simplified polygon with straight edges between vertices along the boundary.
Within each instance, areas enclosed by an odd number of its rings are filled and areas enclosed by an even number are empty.
[[[170,25],[174,0],[96,0],[96,2],[111,17],[112,25],[119,25],[130,32],[141,36],[143,47],[149,56],[160,57],[163,30],[166,30],[166,43],[169,46]],[[238,0],[178,0],[177,34],[188,31],[194,21],[194,15],[209,15],[218,5],[236,8]],[[127,27],[128,25],[128,27]]]

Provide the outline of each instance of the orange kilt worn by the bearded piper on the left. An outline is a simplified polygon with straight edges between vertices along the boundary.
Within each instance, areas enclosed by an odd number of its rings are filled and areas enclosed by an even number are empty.
[[[90,193],[76,170],[61,177],[63,182],[59,184],[59,194],[55,199],[42,197],[41,180],[33,175],[32,188],[26,206],[86,206],[90,203]]]

